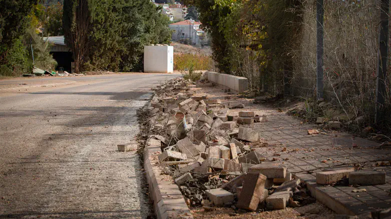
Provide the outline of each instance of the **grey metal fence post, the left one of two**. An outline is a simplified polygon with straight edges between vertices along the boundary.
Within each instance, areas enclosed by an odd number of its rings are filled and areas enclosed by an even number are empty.
[[[316,99],[323,98],[323,0],[316,0]]]

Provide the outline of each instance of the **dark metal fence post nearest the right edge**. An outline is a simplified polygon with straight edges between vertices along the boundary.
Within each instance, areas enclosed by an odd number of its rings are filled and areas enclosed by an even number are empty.
[[[380,121],[384,113],[385,96],[385,78],[387,75],[387,57],[388,57],[388,14],[389,0],[381,0],[379,23],[379,49],[377,51],[377,78],[376,78],[376,114],[375,123]]]

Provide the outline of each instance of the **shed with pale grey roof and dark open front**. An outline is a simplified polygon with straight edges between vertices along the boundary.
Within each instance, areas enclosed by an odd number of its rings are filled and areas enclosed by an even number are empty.
[[[57,61],[58,65],[56,70],[63,68],[64,71],[72,73],[72,62],[74,61],[72,56],[72,50],[65,45],[64,36],[49,36],[43,37],[45,42],[50,42],[52,47],[50,48],[50,54]]]

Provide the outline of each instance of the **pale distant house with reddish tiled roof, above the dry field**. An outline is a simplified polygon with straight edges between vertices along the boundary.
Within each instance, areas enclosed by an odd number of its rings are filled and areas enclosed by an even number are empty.
[[[201,45],[205,40],[205,32],[200,28],[201,23],[194,20],[183,20],[169,25],[172,33],[172,41]]]

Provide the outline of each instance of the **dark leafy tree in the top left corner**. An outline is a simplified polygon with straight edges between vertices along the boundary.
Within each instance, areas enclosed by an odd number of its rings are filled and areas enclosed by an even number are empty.
[[[0,65],[6,63],[8,51],[29,26],[27,15],[36,1],[2,0],[2,6],[0,6],[0,45],[2,45]]]

